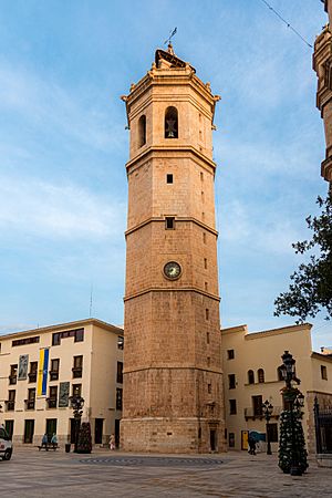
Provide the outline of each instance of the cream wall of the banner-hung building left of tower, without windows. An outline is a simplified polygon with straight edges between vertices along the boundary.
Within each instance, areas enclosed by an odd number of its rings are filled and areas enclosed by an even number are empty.
[[[96,326],[98,323],[98,326]],[[52,345],[52,334],[64,331],[72,331],[84,328],[84,341],[75,342],[74,338],[63,338],[59,345]],[[69,382],[70,392],[73,394],[73,385],[81,384],[81,395],[85,401],[82,421],[92,423],[92,436],[94,442],[94,418],[105,418],[104,439],[114,429],[114,418],[120,414],[115,407],[115,370],[117,359],[122,359],[122,351],[117,350],[117,336],[121,329],[95,320],[72,322],[56,326],[37,329],[17,334],[0,338],[0,404],[2,413],[0,422],[13,421],[13,440],[15,444],[23,444],[24,421],[34,421],[34,436],[32,444],[40,444],[42,435],[45,433],[46,419],[56,419],[56,434],[60,444],[66,443],[71,430],[70,419],[73,417],[72,408],[59,407],[60,383]],[[12,341],[39,336],[40,342],[12,346]],[[37,382],[17,380],[13,385],[9,384],[10,365],[19,364],[20,355],[29,355],[30,362],[39,362],[40,349],[49,349],[49,369],[46,394],[35,396],[34,409],[28,409],[24,400],[28,398],[28,390],[37,388]],[[74,356],[83,356],[82,377],[74,377],[72,372]],[[59,378],[50,380],[50,367],[53,359],[60,360]],[[40,365],[39,365],[40,367]],[[110,381],[101,382],[105,378],[105,373]],[[50,387],[58,386],[56,407],[49,407],[48,397]],[[97,394],[96,388],[97,386]],[[15,391],[14,411],[8,411],[8,392]],[[112,400],[113,397],[113,400]],[[113,409],[112,409],[113,408]],[[102,414],[102,415],[100,415]]]

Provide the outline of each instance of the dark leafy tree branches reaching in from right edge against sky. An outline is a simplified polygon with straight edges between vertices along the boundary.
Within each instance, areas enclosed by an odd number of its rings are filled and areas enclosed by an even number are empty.
[[[299,266],[291,277],[288,292],[281,293],[274,301],[274,315],[289,314],[304,322],[307,317],[314,318],[319,311],[326,312],[325,319],[332,317],[332,190],[326,199],[318,198],[322,209],[318,217],[309,216],[305,221],[313,231],[311,240],[293,243],[295,253],[303,255],[315,250],[310,261]]]

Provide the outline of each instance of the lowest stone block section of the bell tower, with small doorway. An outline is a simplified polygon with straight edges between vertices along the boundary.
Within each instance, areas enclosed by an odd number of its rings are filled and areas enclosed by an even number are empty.
[[[124,452],[197,454],[226,452],[225,427],[205,418],[123,418],[121,448]]]

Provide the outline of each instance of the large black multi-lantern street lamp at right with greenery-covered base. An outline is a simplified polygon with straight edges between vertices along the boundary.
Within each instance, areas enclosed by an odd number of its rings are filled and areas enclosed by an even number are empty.
[[[293,385],[293,383],[298,385],[301,383],[295,375],[295,360],[289,351],[286,351],[281,357],[282,365],[280,371],[282,372],[286,387],[282,390],[283,413],[280,429],[284,434],[280,436],[279,466],[284,473],[290,473],[291,476],[302,476],[308,467],[301,423],[304,396]],[[289,435],[291,436],[291,445],[288,445],[286,440],[289,439]]]

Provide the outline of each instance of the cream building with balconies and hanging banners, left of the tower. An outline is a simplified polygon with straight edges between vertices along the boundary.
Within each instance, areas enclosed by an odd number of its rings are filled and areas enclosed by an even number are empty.
[[[70,396],[82,396],[93,444],[118,442],[123,329],[96,319],[0,336],[0,423],[15,444],[46,433],[73,443]]]

